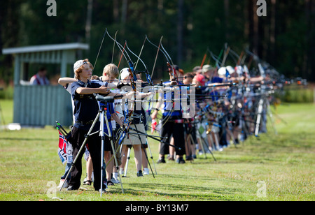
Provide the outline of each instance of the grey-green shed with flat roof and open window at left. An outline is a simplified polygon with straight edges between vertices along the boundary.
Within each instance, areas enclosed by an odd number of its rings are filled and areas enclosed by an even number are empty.
[[[29,85],[22,81],[25,65],[59,64],[60,76],[66,77],[67,66],[76,61],[80,50],[88,50],[83,43],[55,45],[35,45],[27,47],[4,48],[2,54],[13,54],[14,98],[13,123],[21,126],[55,125],[59,121],[64,126],[73,122],[71,97],[60,85]]]

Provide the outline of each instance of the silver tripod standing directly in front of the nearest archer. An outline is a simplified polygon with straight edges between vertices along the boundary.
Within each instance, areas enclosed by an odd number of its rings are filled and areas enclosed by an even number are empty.
[[[66,178],[69,177],[69,174],[71,172],[71,170],[73,169],[73,165],[76,163],[78,157],[79,157],[79,154],[81,153],[81,151],[83,150],[83,148],[85,147],[85,144],[86,144],[86,141],[87,141],[87,138],[89,138],[90,135],[94,135],[95,133],[99,133],[99,135],[102,137],[102,149],[101,149],[101,188],[100,188],[100,195],[102,197],[102,193],[103,193],[103,184],[104,184],[104,180],[103,180],[103,177],[104,177],[104,172],[105,172],[105,166],[104,165],[104,143],[105,143],[105,136],[104,136],[104,119],[105,119],[105,123],[106,123],[106,127],[108,128],[108,131],[109,131],[109,121],[106,117],[106,111],[107,111],[107,108],[106,108],[106,105],[107,103],[113,103],[114,101],[114,98],[118,98],[118,97],[113,97],[113,96],[95,96],[95,99],[97,101],[102,101],[101,103],[99,103],[99,112],[97,113],[97,116],[95,117],[93,123],[92,123],[92,126],[90,127],[90,130],[87,132],[87,134],[85,135],[85,139],[83,141],[83,144],[81,145],[79,151],[78,151],[78,154],[76,156],[76,158],[73,160],[73,162],[71,163],[71,168],[68,172],[68,174],[66,175]],[[100,121],[100,131],[96,131],[94,133],[92,133],[92,130],[95,126],[95,124],[97,123],[97,121]],[[91,134],[92,133],[92,134]],[[117,157],[116,157],[116,151],[115,151],[115,147],[113,147],[113,138],[111,136],[111,131],[109,131],[109,134],[106,134],[106,136],[109,137],[109,140],[111,141],[111,147],[113,149],[113,156],[115,158],[115,162],[116,162],[116,168],[118,170],[118,162],[117,162]],[[120,175],[119,175],[120,177]],[[66,180],[64,180],[64,183],[65,183]],[[62,187],[64,186],[64,183],[62,184],[61,188],[59,191],[62,190]],[[120,179],[120,185],[121,185],[121,189],[122,189],[122,192],[124,193],[124,190],[123,190],[123,183],[121,182],[121,179]]]

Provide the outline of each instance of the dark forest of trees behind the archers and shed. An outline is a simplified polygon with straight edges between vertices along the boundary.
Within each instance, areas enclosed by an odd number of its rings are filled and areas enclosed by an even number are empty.
[[[111,36],[118,30],[117,40],[123,45],[127,40],[135,54],[146,35],[156,45],[163,36],[163,46],[184,71],[200,65],[207,49],[218,55],[228,43],[239,54],[248,48],[286,77],[314,81],[314,1],[266,0],[266,16],[258,16],[256,0],[67,0],[56,1],[57,16],[48,16],[45,0],[6,0],[0,7],[0,49],[88,43],[90,50],[78,57],[94,61],[107,28]],[[148,43],[141,52],[150,72],[156,52]],[[112,54],[113,41],[105,37],[98,71]],[[118,64],[117,47],[113,59]],[[206,63],[214,65],[210,58]],[[156,65],[153,79],[167,77],[162,54]],[[0,75],[6,82],[13,79],[12,56],[0,55]]]

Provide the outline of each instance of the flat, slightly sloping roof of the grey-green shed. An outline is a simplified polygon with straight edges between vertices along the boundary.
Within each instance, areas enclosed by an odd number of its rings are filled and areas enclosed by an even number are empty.
[[[64,43],[55,45],[32,45],[25,47],[9,47],[2,49],[2,54],[20,54],[30,52],[49,52],[55,50],[88,50],[89,45],[84,43]]]

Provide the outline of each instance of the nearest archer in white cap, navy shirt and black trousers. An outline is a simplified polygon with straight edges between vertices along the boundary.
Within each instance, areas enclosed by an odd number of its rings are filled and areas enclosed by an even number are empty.
[[[78,190],[80,187],[80,178],[82,175],[82,163],[81,159],[84,151],[78,154],[83,141],[85,140],[85,135],[90,130],[92,122],[94,121],[97,113],[99,111],[99,105],[96,100],[90,99],[91,94],[108,94],[109,91],[106,87],[101,86],[97,83],[90,82],[90,77],[92,76],[93,66],[90,64],[88,59],[76,61],[73,64],[73,71],[75,77],[78,80],[71,84],[71,95],[74,101],[73,115],[75,117],[75,123],[71,131],[71,139],[73,140],[73,158],[78,156],[78,162],[73,163],[73,168],[71,170],[71,179],[69,181],[69,187],[67,190]],[[99,121],[95,123],[94,131],[99,128]],[[90,135],[87,138],[86,144],[90,151],[90,156],[92,158],[92,164],[94,170],[101,169],[101,137],[99,135]],[[94,171],[94,189],[99,191],[101,186],[101,172]],[[102,181],[103,182],[103,181]]]

